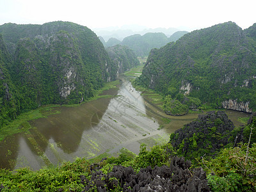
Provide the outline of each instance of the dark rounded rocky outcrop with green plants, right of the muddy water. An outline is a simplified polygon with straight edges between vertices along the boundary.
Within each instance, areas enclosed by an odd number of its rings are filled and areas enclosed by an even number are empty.
[[[188,158],[215,156],[229,143],[233,129],[234,124],[225,111],[209,111],[171,134],[170,142],[179,154]]]

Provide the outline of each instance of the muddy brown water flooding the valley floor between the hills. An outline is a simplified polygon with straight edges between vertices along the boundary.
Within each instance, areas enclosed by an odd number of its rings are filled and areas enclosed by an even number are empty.
[[[118,90],[104,94],[113,97],[84,103],[76,108],[59,107],[60,114],[31,122],[31,129],[0,143],[0,168],[11,170],[29,166],[38,170],[76,157],[92,158],[103,152],[115,154],[122,147],[138,154],[140,144],[155,145],[168,141],[169,134],[188,124],[197,114],[168,116],[145,102],[129,81]],[[237,116],[246,113],[228,111],[236,125]],[[162,118],[170,124],[159,128]]]

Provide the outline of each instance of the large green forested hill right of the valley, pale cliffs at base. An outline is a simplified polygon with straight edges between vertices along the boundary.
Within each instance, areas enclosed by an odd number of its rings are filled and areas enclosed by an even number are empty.
[[[193,31],[152,49],[140,83],[177,99],[197,97],[217,108],[256,109],[255,24],[234,22]]]

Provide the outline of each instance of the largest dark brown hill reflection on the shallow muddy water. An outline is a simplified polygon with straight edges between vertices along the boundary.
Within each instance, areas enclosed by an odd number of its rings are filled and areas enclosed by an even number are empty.
[[[58,143],[65,153],[76,152],[83,132],[91,129],[92,116],[100,111],[99,118],[102,118],[108,109],[109,100],[110,98],[98,99],[76,108],[62,107],[60,114],[36,120],[33,126],[37,127],[47,140],[52,139]]]

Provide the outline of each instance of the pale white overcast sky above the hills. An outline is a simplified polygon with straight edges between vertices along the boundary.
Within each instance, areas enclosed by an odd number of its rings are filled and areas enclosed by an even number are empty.
[[[207,28],[233,21],[256,22],[255,0],[0,0],[0,24],[44,24],[55,20],[88,28],[137,24],[148,28]]]

